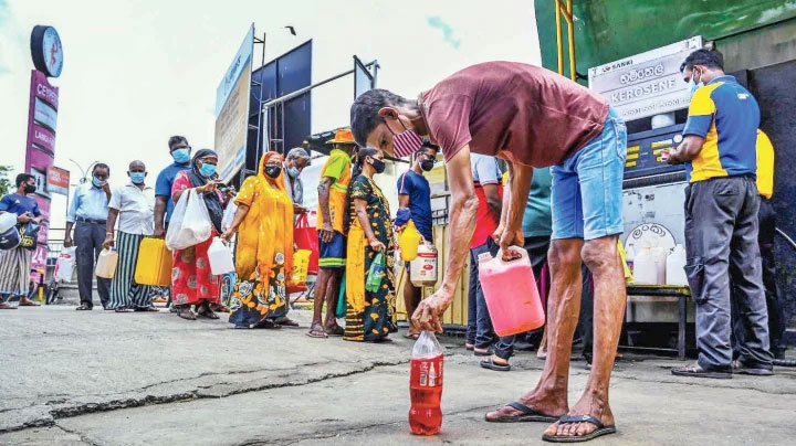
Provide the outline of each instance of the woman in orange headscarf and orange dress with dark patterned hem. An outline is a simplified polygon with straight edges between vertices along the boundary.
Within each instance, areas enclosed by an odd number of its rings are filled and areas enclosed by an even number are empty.
[[[282,155],[265,153],[258,174],[243,181],[234,202],[238,211],[222,235],[229,241],[239,233],[229,321],[235,328],[279,328],[274,319],[286,319],[285,288],[293,272],[293,202]]]

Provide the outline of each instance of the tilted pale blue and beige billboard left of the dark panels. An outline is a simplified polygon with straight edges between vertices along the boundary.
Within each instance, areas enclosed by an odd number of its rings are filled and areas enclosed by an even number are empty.
[[[214,146],[219,155],[218,172],[222,182],[229,182],[245,160],[253,50],[252,23],[238,54],[216,88]]]

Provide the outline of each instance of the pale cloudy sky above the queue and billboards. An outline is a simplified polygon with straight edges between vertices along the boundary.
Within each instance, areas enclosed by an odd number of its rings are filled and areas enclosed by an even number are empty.
[[[252,22],[268,33],[266,60],[313,39],[313,82],[350,70],[356,54],[378,60],[378,87],[407,97],[479,62],[541,64],[528,0],[0,0],[0,163],[24,167],[34,25],[55,26],[64,49],[51,79],[61,89],[55,166],[74,179],[71,159],[103,161],[121,185],[134,159],[154,184],[171,135],[212,148],[216,87]],[[347,76],[313,91],[313,132],[348,125],[353,89]],[[53,202],[53,227],[62,205]]]

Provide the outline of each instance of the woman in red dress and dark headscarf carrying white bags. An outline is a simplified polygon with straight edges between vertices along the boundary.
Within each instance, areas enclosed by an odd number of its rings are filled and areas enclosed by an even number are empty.
[[[190,170],[179,172],[171,187],[171,200],[175,204],[187,190],[192,189],[198,192],[198,197],[202,198],[207,206],[212,226],[210,236],[206,241],[174,251],[172,300],[177,306],[177,316],[187,320],[196,320],[197,315],[218,319],[211,306],[220,305],[219,280],[210,270],[207,255],[212,238],[221,233],[226,201],[226,197],[218,190],[216,164],[218,164],[218,155],[210,149],[201,149],[193,155]],[[197,195],[189,198],[195,197]],[[174,220],[171,223],[175,226]],[[172,230],[178,227],[169,227],[169,231]],[[191,306],[196,306],[196,312],[191,310]]]

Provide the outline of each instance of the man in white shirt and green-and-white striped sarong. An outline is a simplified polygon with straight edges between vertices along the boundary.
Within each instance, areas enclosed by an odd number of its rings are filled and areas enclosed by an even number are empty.
[[[130,182],[116,189],[108,202],[107,234],[103,247],[116,246],[118,264],[111,283],[111,308],[116,312],[157,311],[150,287],[136,284],[135,267],[138,248],[145,236],[154,232],[155,190],[145,184],[146,166],[129,163]],[[118,221],[118,235],[114,226]]]

